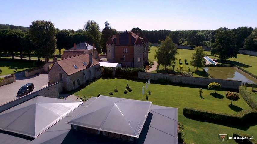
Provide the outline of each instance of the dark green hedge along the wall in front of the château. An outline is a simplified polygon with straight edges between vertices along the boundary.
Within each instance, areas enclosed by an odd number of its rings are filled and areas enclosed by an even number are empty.
[[[116,68],[116,75],[122,76],[138,76],[138,72],[145,72],[144,68]]]

